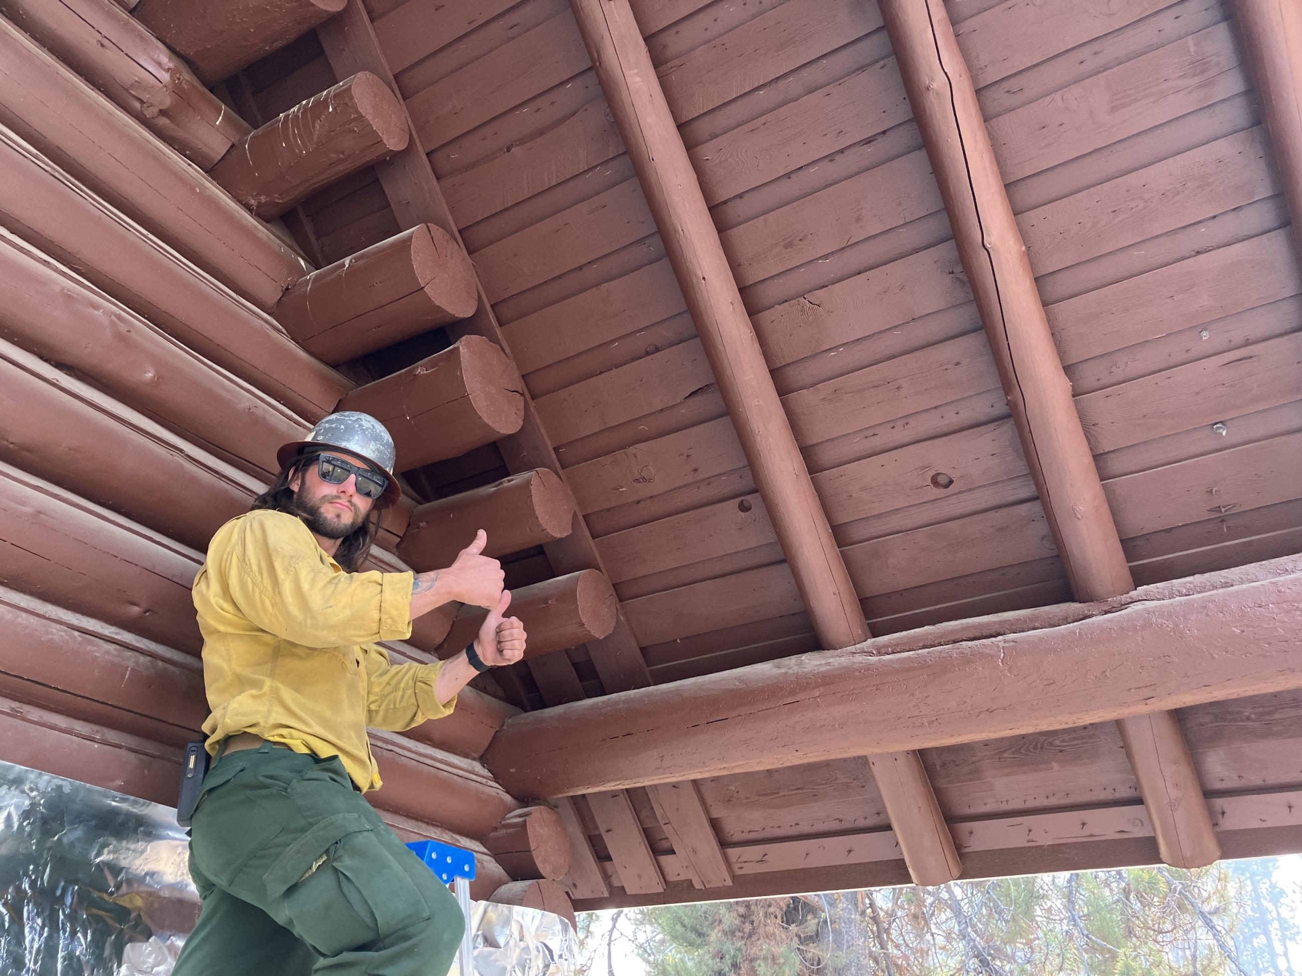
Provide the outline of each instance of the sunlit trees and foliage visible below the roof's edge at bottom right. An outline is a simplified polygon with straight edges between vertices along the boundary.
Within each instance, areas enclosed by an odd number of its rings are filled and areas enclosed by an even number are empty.
[[[1302,940],[1302,885],[1281,885],[1276,864],[1042,874],[625,917],[650,976],[1297,976],[1288,950]]]

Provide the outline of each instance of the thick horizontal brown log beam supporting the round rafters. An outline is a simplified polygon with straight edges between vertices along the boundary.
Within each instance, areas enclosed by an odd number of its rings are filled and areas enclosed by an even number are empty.
[[[521,714],[484,759],[527,798],[949,746],[1299,688],[1299,649],[1285,557]]]

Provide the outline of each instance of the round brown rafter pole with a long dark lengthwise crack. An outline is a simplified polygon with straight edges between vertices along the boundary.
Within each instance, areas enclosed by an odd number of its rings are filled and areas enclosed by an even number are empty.
[[[1134,588],[1094,455],[1053,345],[1035,276],[943,0],[881,0],[954,242],[995,354],[1022,454],[1078,600]],[[1163,859],[1220,856],[1189,747],[1173,714],[1121,722]]]

